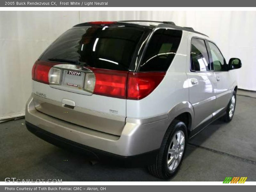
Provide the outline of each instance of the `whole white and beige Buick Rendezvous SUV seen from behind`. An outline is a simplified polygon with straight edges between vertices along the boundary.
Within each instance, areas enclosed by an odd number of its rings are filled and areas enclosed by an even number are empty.
[[[167,179],[188,138],[232,120],[231,69],[240,67],[208,36],[173,22],[78,24],[34,64],[26,125],[55,145],[149,165]]]

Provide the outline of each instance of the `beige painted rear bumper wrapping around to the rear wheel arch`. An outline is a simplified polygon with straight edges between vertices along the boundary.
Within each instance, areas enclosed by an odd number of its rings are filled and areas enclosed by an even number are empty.
[[[170,119],[162,115],[148,119],[126,119],[120,136],[95,131],[72,124],[39,112],[35,108],[33,97],[26,106],[26,124],[28,130],[54,140],[65,140],[68,145],[76,145],[87,151],[106,152],[114,156],[127,158],[157,151],[163,140]],[[50,141],[49,141],[50,142]],[[82,146],[82,147],[81,147]],[[93,152],[96,154],[96,152]],[[99,155],[96,155],[99,156]],[[108,156],[108,155],[107,155]]]

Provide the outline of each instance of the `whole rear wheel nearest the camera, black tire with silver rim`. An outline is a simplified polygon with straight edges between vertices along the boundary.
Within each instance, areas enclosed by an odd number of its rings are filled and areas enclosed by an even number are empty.
[[[173,120],[161,144],[155,163],[149,165],[149,172],[161,179],[170,179],[179,170],[187,145],[187,127]]]

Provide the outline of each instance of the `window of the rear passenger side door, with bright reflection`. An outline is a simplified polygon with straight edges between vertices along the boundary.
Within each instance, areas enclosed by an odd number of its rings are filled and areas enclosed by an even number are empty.
[[[210,62],[203,39],[193,38],[191,40],[191,70],[192,71],[210,71]]]

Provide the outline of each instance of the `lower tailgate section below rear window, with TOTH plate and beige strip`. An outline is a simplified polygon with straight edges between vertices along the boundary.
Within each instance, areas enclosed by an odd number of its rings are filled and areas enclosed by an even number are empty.
[[[47,74],[46,83],[49,84],[34,81],[36,109],[70,123],[120,136],[125,124],[126,99],[99,94],[106,91],[122,97],[128,72],[93,70],[37,61],[34,78],[42,78],[43,81]],[[124,84],[119,82],[120,79],[124,79]]]

